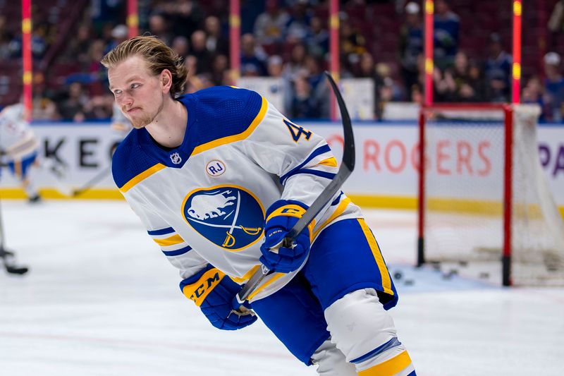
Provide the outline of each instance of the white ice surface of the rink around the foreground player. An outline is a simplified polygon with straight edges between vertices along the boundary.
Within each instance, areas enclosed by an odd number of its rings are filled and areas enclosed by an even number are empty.
[[[0,272],[0,375],[316,375],[262,322],[209,325],[125,202],[1,205],[6,245],[31,270]],[[401,274],[391,313],[417,375],[563,373],[564,289],[413,269],[415,213],[364,212]]]

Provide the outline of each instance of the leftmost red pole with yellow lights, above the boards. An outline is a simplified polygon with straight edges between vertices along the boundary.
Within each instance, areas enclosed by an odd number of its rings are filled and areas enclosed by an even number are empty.
[[[25,119],[32,117],[32,54],[31,54],[31,0],[22,0],[22,61],[23,61],[23,107]]]

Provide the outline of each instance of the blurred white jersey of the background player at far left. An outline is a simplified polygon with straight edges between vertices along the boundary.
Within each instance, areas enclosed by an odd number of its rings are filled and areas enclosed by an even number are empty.
[[[39,141],[25,121],[24,114],[23,104],[6,106],[0,112],[0,150],[15,161],[39,147]]]

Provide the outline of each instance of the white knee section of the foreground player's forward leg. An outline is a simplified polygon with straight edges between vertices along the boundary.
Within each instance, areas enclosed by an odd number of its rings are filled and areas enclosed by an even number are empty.
[[[325,310],[325,320],[331,341],[348,362],[354,361],[357,365],[372,358],[370,355],[375,349],[397,341],[392,317],[384,310],[374,289],[357,290],[343,296]],[[390,349],[393,347],[397,346],[390,346]],[[386,353],[393,356],[390,351]],[[380,358],[379,354],[375,355]]]

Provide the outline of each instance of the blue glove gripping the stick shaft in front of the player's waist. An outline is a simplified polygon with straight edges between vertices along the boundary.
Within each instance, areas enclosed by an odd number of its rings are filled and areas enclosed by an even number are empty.
[[[280,247],[282,239],[305,213],[305,205],[298,201],[278,200],[266,211],[264,243],[260,262],[273,272],[289,273],[298,269],[309,253],[314,223],[309,224],[295,239],[292,248]]]

